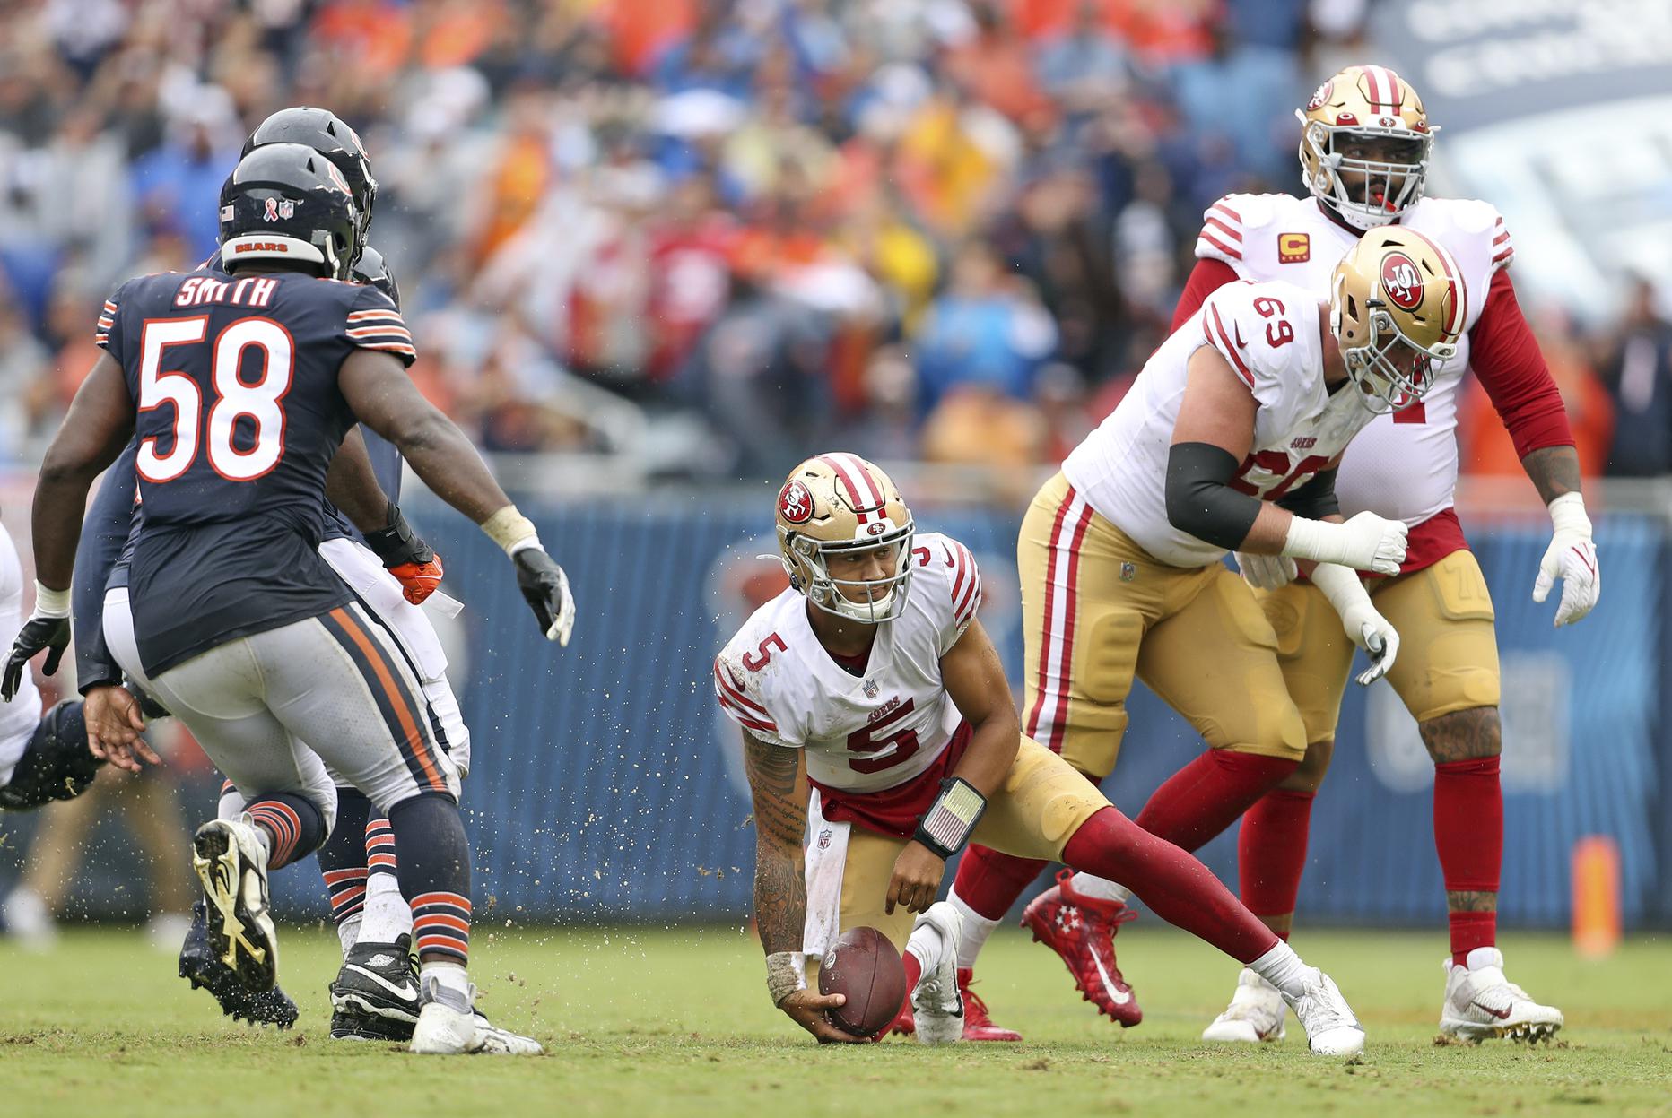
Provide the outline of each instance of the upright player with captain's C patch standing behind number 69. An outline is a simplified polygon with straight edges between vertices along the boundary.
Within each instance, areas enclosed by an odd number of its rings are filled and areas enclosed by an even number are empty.
[[[1436,127],[1423,102],[1386,67],[1348,67],[1324,82],[1301,119],[1301,165],[1309,197],[1232,194],[1206,212],[1174,323],[1232,281],[1284,279],[1324,294],[1331,261],[1364,231],[1411,229],[1463,269],[1468,318],[1458,354],[1436,371],[1421,406],[1371,423],[1341,465],[1336,491],[1348,513],[1374,510],[1411,528],[1399,577],[1371,587],[1376,607],[1404,637],[1388,673],[1435,760],[1435,846],[1451,927],[1443,1033],[1463,1039],[1537,1039],[1562,1028],[1562,1013],[1535,1003],[1503,976],[1496,949],[1503,794],[1498,785],[1498,645],[1491,597],[1453,511],[1458,478],[1456,401],[1473,369],[1515,440],[1555,535],[1533,600],[1555,578],[1555,623],[1597,603],[1602,577],[1580,496],[1578,458],[1567,411],[1515,301],[1515,259],[1503,217],[1486,202],[1423,197]],[[1389,470],[1388,463],[1399,463]],[[1314,585],[1289,582],[1292,567],[1237,556],[1277,627],[1284,678],[1306,720],[1306,762],[1242,819],[1237,867],[1242,901],[1281,936],[1289,934],[1306,864],[1313,794],[1329,767],[1353,648],[1341,640]],[[1207,1039],[1282,1036],[1282,1003],[1244,974]]]

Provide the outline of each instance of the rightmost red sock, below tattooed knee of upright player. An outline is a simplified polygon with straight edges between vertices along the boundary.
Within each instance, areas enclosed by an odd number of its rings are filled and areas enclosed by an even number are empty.
[[[1443,760],[1435,765],[1435,851],[1446,892],[1498,892],[1503,871],[1503,789],[1498,759]],[[1451,958],[1498,938],[1496,912],[1451,912]]]

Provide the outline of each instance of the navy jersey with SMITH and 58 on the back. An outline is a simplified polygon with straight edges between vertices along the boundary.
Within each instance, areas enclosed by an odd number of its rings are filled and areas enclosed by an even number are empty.
[[[301,272],[142,276],[95,341],[135,404],[145,670],[348,602],[318,551],[326,470],[354,424],[336,378],[354,348],[416,356],[388,296]]]

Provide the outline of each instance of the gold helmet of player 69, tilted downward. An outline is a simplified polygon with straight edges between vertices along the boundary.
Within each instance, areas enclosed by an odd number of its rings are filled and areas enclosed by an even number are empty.
[[[1359,403],[1381,414],[1418,403],[1456,356],[1468,291],[1451,254],[1413,229],[1371,229],[1329,286],[1329,329]]]

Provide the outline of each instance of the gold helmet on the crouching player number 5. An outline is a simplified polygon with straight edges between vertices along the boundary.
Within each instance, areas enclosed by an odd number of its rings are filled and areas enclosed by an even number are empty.
[[[866,623],[900,617],[911,580],[915,531],[900,490],[858,455],[833,451],[808,458],[777,491],[777,550],[789,585],[826,613]],[[891,573],[884,578],[831,577],[831,553],[883,548],[891,548],[884,555]]]

